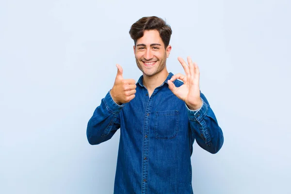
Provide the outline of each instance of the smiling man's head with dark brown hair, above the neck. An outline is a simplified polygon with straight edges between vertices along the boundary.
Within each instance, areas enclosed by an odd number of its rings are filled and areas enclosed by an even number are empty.
[[[171,27],[159,17],[143,17],[132,24],[129,34],[134,41],[136,64],[144,75],[166,74],[166,58],[172,49]]]

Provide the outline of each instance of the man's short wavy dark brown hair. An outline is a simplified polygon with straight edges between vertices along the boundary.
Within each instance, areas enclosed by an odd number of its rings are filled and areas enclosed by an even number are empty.
[[[165,49],[169,46],[172,29],[162,18],[156,16],[143,17],[132,24],[129,34],[134,41],[134,45],[136,45],[137,39],[144,36],[145,30],[157,30],[160,33]]]

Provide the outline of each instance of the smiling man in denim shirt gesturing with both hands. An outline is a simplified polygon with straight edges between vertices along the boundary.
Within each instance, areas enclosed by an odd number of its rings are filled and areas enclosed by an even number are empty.
[[[222,130],[199,90],[198,66],[190,57],[188,65],[178,58],[186,75],[168,73],[172,30],[159,17],[139,19],[129,33],[143,75],[137,83],[125,80],[116,65],[113,88],[88,122],[88,141],[105,142],[120,128],[114,193],[192,194],[194,140],[210,153],[223,145]]]

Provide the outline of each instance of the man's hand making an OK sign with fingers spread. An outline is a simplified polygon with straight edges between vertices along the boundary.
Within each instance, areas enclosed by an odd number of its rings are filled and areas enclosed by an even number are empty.
[[[187,57],[188,65],[185,61],[178,57],[178,61],[183,66],[186,76],[178,73],[168,80],[169,89],[181,100],[183,100],[189,109],[197,110],[202,106],[199,89],[199,69],[198,66],[192,62],[190,57]],[[176,79],[184,82],[180,87],[176,87],[173,81]]]

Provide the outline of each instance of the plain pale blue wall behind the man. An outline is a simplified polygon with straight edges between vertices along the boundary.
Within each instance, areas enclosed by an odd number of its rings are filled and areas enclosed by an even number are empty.
[[[171,25],[177,57],[200,68],[225,142],[196,142],[194,194],[291,194],[290,0],[1,0],[0,193],[111,194],[120,132],[97,146],[86,127],[120,64],[136,81],[130,26]]]

